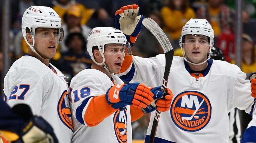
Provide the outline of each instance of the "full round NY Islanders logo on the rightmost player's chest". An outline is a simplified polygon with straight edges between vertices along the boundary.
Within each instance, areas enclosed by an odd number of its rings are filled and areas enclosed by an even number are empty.
[[[179,128],[185,131],[198,131],[210,120],[211,104],[204,94],[186,91],[173,100],[171,117]]]

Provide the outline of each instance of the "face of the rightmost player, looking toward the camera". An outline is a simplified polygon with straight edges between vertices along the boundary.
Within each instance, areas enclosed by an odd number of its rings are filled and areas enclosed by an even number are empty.
[[[199,35],[186,35],[184,50],[190,62],[201,63],[207,59],[207,53],[210,52],[208,38]]]

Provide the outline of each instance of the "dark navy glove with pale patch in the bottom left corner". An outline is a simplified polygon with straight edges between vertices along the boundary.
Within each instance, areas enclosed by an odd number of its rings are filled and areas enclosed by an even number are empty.
[[[28,105],[18,104],[13,107],[13,112],[20,115],[26,124],[17,133],[19,138],[12,143],[58,143],[51,125],[42,117],[33,116]]]

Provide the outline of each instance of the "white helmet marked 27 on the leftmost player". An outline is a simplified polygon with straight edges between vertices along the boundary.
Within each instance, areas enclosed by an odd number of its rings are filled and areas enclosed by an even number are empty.
[[[36,28],[55,28],[59,30],[59,41],[63,40],[64,32],[63,28],[61,28],[61,18],[50,7],[46,6],[31,6],[23,14],[22,17],[22,34],[25,38],[27,44],[31,47],[31,49],[36,52],[35,45],[35,31]],[[29,28],[30,34],[33,38],[33,45],[27,41],[26,38],[26,28]],[[37,53],[37,52],[36,52]],[[38,53],[37,53],[38,54]]]

